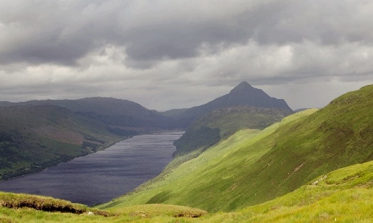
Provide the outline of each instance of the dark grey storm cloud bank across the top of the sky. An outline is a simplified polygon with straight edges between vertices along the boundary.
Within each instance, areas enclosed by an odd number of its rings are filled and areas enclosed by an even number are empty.
[[[135,63],[189,58],[202,46],[214,52],[250,39],[371,43],[372,31],[352,27],[367,24],[334,24],[346,13],[354,19],[361,10],[355,8],[346,1],[8,1],[0,63],[73,65],[105,44],[124,46]]]

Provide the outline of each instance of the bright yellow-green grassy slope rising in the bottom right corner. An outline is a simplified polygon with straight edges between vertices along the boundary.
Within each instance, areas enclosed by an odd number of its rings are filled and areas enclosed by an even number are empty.
[[[373,161],[327,172],[294,192],[202,222],[372,222]]]

